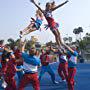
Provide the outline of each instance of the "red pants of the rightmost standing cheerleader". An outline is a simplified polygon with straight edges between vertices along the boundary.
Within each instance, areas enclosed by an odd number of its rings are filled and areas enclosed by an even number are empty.
[[[74,90],[74,76],[76,68],[68,68],[68,90]]]

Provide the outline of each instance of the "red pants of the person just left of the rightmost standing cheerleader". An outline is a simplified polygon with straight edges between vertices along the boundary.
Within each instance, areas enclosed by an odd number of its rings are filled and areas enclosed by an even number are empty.
[[[58,74],[62,78],[62,80],[68,77],[68,63],[60,63],[58,67]]]

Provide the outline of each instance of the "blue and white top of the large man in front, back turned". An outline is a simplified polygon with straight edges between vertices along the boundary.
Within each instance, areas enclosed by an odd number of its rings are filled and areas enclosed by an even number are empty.
[[[23,67],[25,73],[36,73],[38,72],[38,66],[40,65],[40,59],[36,56],[30,56],[23,52],[22,57],[24,59]]]

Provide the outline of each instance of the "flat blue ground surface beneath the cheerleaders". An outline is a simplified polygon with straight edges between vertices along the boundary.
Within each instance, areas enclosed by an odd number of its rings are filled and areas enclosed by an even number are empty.
[[[56,80],[59,81],[60,77],[57,73],[58,63],[51,64],[53,68]],[[40,71],[40,70],[39,70]],[[77,65],[77,75],[75,77],[76,85],[75,90],[90,90],[90,64],[78,64]],[[45,73],[40,82],[41,90],[67,90],[65,83],[59,83],[54,85],[51,81],[49,74]],[[3,90],[0,88],[0,90]],[[25,90],[33,90],[31,85],[28,85]]]

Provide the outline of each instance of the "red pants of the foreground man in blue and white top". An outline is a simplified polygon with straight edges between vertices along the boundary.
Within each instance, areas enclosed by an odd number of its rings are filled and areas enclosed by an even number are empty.
[[[19,90],[24,90],[24,87],[31,83],[34,90],[40,90],[40,83],[38,80],[38,74],[25,74],[20,82]]]

